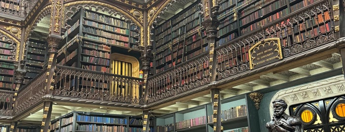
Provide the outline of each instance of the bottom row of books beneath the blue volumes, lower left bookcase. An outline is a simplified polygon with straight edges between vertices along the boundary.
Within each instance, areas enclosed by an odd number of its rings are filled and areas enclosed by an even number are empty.
[[[96,132],[127,132],[127,127],[126,126],[105,126],[105,125],[99,126],[96,124],[88,124],[88,125],[79,125],[77,130],[96,131]]]

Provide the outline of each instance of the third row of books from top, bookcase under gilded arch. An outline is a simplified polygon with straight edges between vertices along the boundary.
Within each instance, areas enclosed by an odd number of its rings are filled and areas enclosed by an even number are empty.
[[[128,41],[128,36],[109,33],[109,32],[105,32],[103,30],[99,30],[99,29],[95,29],[95,28],[91,28],[91,27],[83,27],[82,30],[84,32],[97,34],[97,35],[100,35],[103,37],[108,37],[108,38],[117,39],[117,40],[121,40],[121,41]]]

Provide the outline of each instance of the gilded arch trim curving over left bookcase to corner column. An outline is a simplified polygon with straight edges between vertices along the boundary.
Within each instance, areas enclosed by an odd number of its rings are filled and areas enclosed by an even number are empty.
[[[170,1],[170,0],[169,0]],[[75,1],[75,2],[70,2],[70,3],[66,3],[64,4],[65,7],[68,7],[68,6],[72,6],[72,5],[76,5],[76,4],[97,4],[97,5],[102,5],[102,6],[106,6],[108,8],[111,8],[111,9],[114,9],[115,11],[118,11],[120,13],[122,13],[123,15],[127,16],[129,19],[133,20],[134,23],[136,23],[139,27],[140,27],[140,30],[141,30],[141,45],[144,45],[144,29],[143,29],[143,25],[140,24],[133,16],[131,16],[130,14],[128,14],[128,12],[126,12],[125,10],[122,10],[122,9],[119,9],[117,8],[116,6],[114,5],[110,5],[110,4],[107,4],[107,3],[102,3],[102,2],[98,2],[98,1]]]

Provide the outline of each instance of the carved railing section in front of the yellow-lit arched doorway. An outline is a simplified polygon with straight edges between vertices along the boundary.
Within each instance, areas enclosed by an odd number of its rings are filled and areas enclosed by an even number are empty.
[[[97,72],[69,66],[57,66],[54,96],[123,103],[139,103],[141,78]]]

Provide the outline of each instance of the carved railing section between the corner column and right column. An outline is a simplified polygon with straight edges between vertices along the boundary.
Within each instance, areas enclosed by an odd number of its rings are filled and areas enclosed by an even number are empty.
[[[148,79],[148,103],[210,83],[209,56],[204,53]]]

